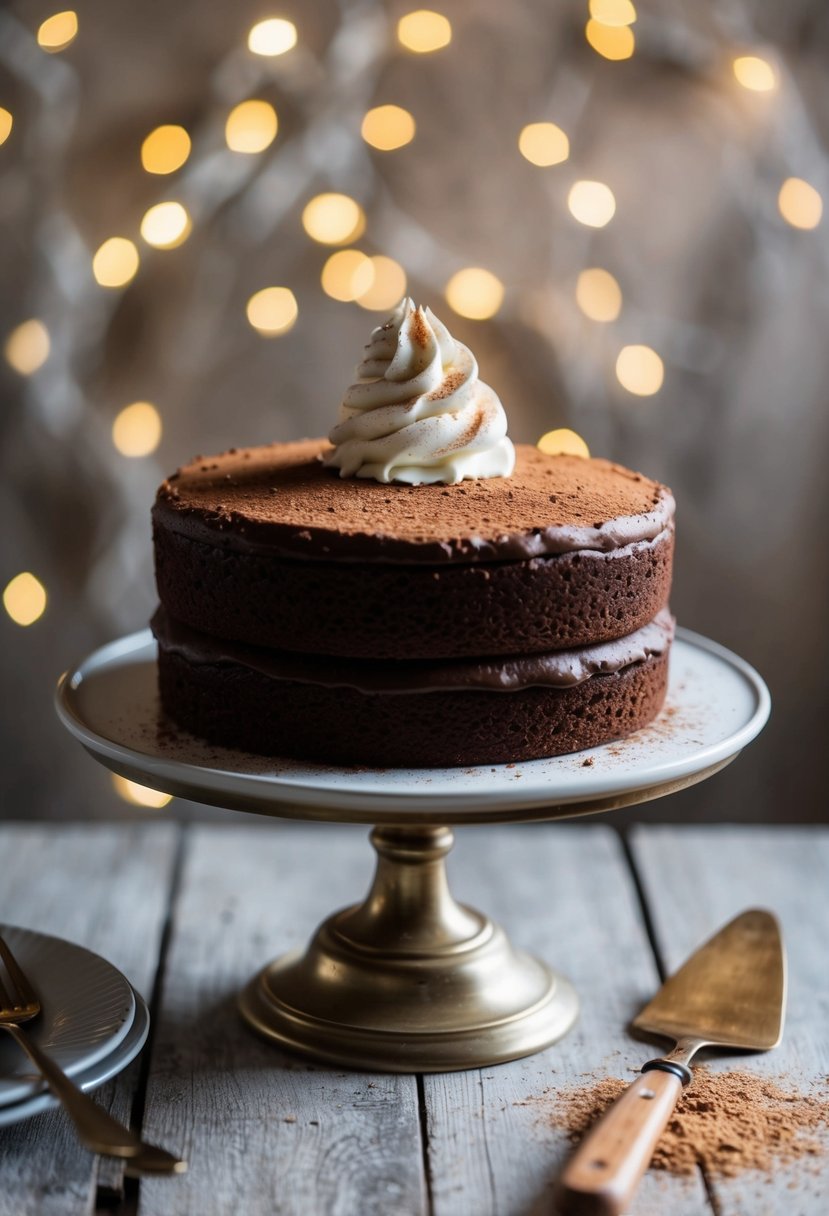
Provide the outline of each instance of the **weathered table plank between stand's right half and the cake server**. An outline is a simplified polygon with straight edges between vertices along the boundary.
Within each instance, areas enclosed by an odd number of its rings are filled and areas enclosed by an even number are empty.
[[[607,827],[525,826],[458,833],[455,895],[490,913],[513,942],[576,985],[581,1017],[546,1052],[476,1073],[427,1076],[435,1216],[526,1216],[549,1210],[569,1153],[553,1126],[557,1090],[614,1075],[647,1058],[626,1024],[659,980],[628,867]],[[649,1176],[635,1216],[703,1216],[700,1178]]]

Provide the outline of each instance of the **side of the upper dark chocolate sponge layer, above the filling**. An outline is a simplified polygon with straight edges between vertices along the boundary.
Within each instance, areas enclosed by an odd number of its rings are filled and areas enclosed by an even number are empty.
[[[538,654],[613,641],[653,620],[671,589],[673,533],[614,553],[528,562],[301,562],[156,525],[156,581],[171,617],[213,637],[306,654]]]

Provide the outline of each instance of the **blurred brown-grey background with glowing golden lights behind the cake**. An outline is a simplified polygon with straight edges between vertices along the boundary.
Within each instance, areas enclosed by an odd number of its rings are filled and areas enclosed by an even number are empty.
[[[407,291],[514,439],[673,488],[675,612],[771,685],[638,814],[825,816],[829,9],[435,2],[0,11],[4,814],[152,814],[55,680],[150,617],[162,477],[327,432]]]

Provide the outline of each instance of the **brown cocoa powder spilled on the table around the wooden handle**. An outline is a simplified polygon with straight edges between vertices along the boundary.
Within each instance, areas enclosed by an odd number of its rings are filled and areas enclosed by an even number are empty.
[[[566,1128],[575,1143],[625,1088],[625,1081],[604,1077],[559,1092],[553,1122]],[[824,1155],[827,1139],[820,1133],[828,1126],[825,1088],[802,1094],[755,1073],[712,1073],[703,1065],[679,1097],[653,1167],[692,1173],[699,1165],[720,1177],[744,1170],[769,1172],[777,1165]]]

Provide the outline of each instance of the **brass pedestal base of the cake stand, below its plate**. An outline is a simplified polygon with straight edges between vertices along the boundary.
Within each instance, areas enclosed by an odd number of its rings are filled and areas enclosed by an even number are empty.
[[[576,1019],[573,986],[456,903],[449,828],[374,828],[365,903],[329,917],[308,950],[270,963],[239,997],[260,1034],[316,1059],[445,1073],[547,1047]]]

